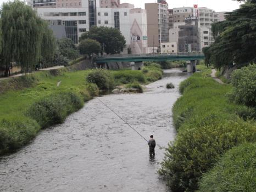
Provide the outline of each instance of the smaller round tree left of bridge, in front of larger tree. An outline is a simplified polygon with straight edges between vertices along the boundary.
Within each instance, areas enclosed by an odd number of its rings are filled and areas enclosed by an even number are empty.
[[[79,50],[81,54],[88,54],[90,57],[92,53],[101,52],[101,44],[93,39],[84,39],[79,43]]]

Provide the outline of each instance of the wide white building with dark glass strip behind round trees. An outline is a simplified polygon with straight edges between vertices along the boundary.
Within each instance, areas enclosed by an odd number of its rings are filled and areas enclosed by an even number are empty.
[[[90,30],[92,26],[114,27],[120,30],[125,37],[126,48],[124,53],[127,53],[128,47],[131,48],[131,44],[132,47],[136,47],[136,49],[133,49],[134,53],[147,53],[146,10],[133,10],[133,5],[129,3],[120,4],[119,1],[115,1],[116,7],[101,7],[100,3],[102,1],[98,0],[56,1],[56,7],[46,7],[48,6],[46,5],[40,6],[40,8],[34,6],[35,1],[30,2],[40,17],[49,21],[55,37],[68,37],[77,44],[82,33]],[[74,4],[76,1],[78,5]],[[104,2],[107,3],[108,1]],[[135,35],[136,41],[131,41],[135,38]]]

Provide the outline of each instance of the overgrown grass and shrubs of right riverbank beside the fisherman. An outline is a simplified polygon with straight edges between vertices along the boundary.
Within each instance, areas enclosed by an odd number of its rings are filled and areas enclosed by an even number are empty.
[[[204,68],[180,84],[183,95],[173,108],[178,133],[159,170],[172,191],[197,190],[202,174],[226,151],[256,142],[256,123],[249,120],[253,109],[232,103],[227,97],[232,86],[214,81]]]

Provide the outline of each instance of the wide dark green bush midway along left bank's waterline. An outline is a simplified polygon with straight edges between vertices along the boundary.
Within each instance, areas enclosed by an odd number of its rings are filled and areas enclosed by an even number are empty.
[[[62,123],[67,115],[82,108],[83,105],[82,99],[75,93],[55,93],[32,104],[26,115],[36,120],[41,128],[46,128]]]

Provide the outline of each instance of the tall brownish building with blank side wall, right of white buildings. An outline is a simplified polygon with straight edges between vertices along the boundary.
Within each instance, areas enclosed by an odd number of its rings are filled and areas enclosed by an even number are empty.
[[[168,3],[158,0],[157,3],[146,3],[148,47],[151,51],[160,48],[162,42],[169,42]]]

